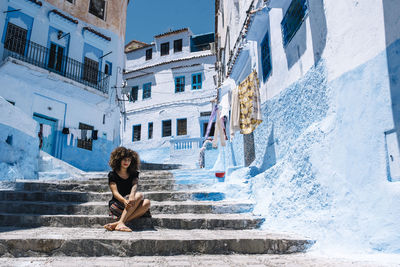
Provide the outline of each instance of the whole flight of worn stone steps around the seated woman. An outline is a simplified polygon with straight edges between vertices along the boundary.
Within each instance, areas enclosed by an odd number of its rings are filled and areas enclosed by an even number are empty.
[[[210,188],[215,177],[142,171],[139,191],[151,217],[108,232],[106,174],[87,180],[17,181],[0,191],[0,256],[150,256],[303,252],[314,241],[259,230],[250,202],[229,201]],[[185,172],[186,174],[187,172]],[[197,178],[196,178],[197,175]]]

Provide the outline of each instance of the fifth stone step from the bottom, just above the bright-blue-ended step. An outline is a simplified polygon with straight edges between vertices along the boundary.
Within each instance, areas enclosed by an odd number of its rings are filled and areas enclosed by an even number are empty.
[[[146,191],[178,191],[178,190],[190,190],[201,188],[199,184],[146,184],[139,183],[138,190],[141,192]],[[77,192],[110,192],[108,183],[99,184],[85,184],[85,183],[65,183],[65,182],[17,182],[15,185],[16,190],[21,191],[77,191]]]

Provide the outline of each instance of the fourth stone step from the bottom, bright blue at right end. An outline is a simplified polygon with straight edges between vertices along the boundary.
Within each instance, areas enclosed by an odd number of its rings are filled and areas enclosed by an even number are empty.
[[[225,199],[221,192],[207,191],[158,191],[146,192],[145,197],[154,201],[185,201],[185,200],[211,200],[219,201]],[[107,193],[83,193],[83,192],[40,192],[40,191],[11,191],[1,190],[0,201],[52,201],[52,202],[91,202],[108,201],[111,192]]]

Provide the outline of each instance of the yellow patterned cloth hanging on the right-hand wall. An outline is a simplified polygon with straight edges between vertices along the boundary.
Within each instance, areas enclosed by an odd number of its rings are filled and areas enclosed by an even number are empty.
[[[250,134],[262,122],[257,72],[253,71],[239,84],[240,133]]]

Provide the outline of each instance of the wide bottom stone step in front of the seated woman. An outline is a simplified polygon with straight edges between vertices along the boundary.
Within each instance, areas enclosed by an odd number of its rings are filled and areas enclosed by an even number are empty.
[[[315,241],[260,230],[108,232],[100,228],[0,228],[0,256],[169,256],[181,254],[289,254]]]

